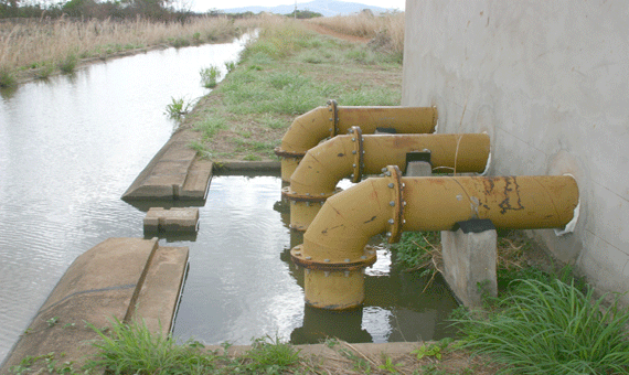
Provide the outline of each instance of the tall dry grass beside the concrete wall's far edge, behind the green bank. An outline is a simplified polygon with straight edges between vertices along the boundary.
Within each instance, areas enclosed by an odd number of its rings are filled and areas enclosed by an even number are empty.
[[[338,33],[369,38],[374,46],[386,50],[385,52],[404,52],[404,13],[373,15],[370,12],[361,12],[352,15],[317,18],[308,22]]]

